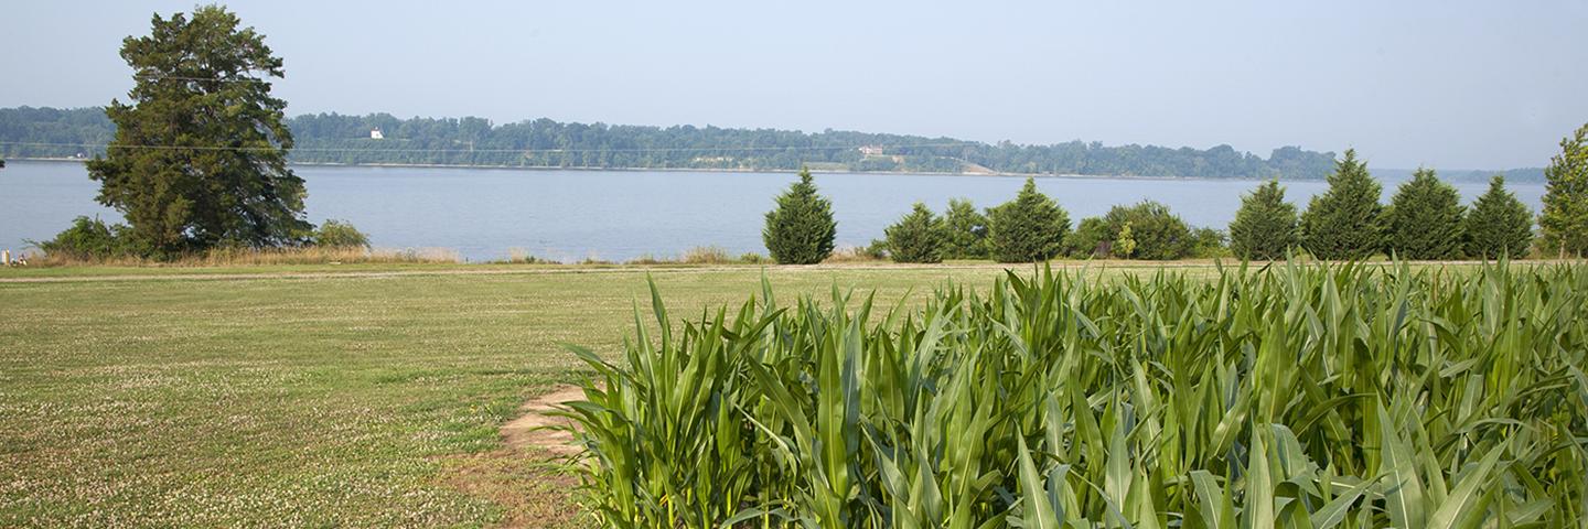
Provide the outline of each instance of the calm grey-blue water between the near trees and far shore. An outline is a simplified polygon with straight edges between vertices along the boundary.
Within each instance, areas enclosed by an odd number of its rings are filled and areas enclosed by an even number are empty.
[[[716,245],[734,254],[765,253],[764,214],[797,176],[789,173],[561,172],[495,168],[297,167],[308,183],[313,222],[346,219],[380,248],[453,248],[468,261],[503,259],[510,249],[557,261],[626,261],[675,256]],[[1383,173],[1385,200],[1405,173]],[[978,208],[1002,203],[1024,178],[940,175],[816,175],[832,199],[838,246],[883,237],[883,227],[926,202]],[[1167,203],[1193,226],[1224,229],[1251,180],[1039,178],[1078,222],[1116,203]],[[1305,205],[1321,181],[1291,181],[1286,199]],[[1486,183],[1456,183],[1472,200]],[[1509,184],[1534,211],[1544,184]],[[10,162],[0,170],[0,248],[27,248],[79,214],[119,219],[94,202],[98,184],[81,164]]]

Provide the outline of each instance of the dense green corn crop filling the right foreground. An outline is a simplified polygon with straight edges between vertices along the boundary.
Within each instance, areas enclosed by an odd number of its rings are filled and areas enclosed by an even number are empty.
[[[654,286],[653,286],[654,292]],[[1588,527],[1588,267],[1007,273],[637,310],[608,527]]]

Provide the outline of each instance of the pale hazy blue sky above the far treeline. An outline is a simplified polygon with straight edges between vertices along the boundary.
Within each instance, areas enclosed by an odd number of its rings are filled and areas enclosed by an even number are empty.
[[[124,97],[192,2],[0,8],[0,106]],[[1539,167],[1588,122],[1588,2],[232,2],[289,113],[851,129],[1377,167]]]

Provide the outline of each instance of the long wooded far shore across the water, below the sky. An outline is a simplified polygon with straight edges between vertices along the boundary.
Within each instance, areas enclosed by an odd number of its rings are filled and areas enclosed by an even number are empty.
[[[260,84],[264,84],[260,81]],[[495,125],[481,118],[305,114],[287,118],[297,164],[437,164],[483,167],[710,168],[854,172],[999,172],[1029,175],[1320,180],[1334,153],[1286,146],[1264,159],[1228,145],[996,145],[954,138],[824,130],[643,127],[557,122]],[[383,138],[372,138],[380,130]],[[94,157],[116,135],[103,108],[0,108],[0,157]]]

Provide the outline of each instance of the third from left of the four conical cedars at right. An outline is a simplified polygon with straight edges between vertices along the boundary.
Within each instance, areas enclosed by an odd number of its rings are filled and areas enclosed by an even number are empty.
[[[1385,226],[1390,229],[1385,251],[1405,259],[1459,259],[1466,229],[1461,192],[1434,175],[1418,168],[1412,180],[1396,189]]]

